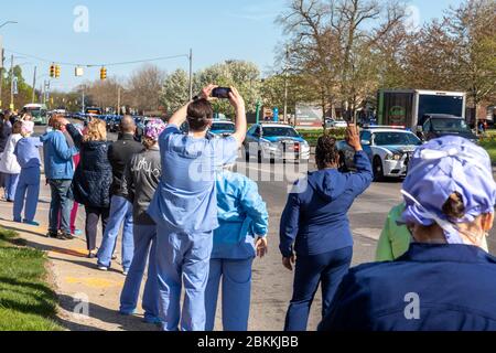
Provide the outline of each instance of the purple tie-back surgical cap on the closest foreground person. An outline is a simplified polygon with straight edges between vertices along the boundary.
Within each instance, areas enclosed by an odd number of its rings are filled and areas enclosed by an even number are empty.
[[[449,220],[442,208],[455,192],[463,197],[465,216]],[[482,214],[494,213],[496,183],[489,156],[461,137],[432,140],[416,150],[403,195],[407,208],[402,222],[424,226],[441,223],[445,233],[452,233],[443,224],[471,223]],[[446,235],[449,238],[450,234]]]

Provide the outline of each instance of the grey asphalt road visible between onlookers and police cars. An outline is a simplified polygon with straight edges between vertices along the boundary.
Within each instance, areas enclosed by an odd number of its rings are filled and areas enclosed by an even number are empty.
[[[40,127],[36,132],[41,132]],[[110,133],[115,140],[117,135]],[[312,168],[311,161],[309,167]],[[269,246],[266,258],[254,265],[250,330],[280,331],[284,325],[285,311],[292,295],[293,274],[282,267],[279,253],[279,223],[285,205],[288,192],[293,181],[306,173],[305,165],[261,164],[254,159],[246,164],[239,160],[238,171],[256,180],[259,191],[270,213]],[[401,181],[390,180],[374,183],[354,204],[349,220],[354,233],[354,265],[373,261],[377,239],[389,210],[401,202]],[[495,238],[496,233],[492,234]],[[495,254],[496,243],[489,238],[489,247]],[[119,246],[118,246],[119,248]],[[321,296],[316,295],[309,320],[309,330],[315,330],[321,320]],[[218,314],[220,308],[218,309]],[[218,318],[217,322],[220,322]],[[217,329],[222,329],[217,324]]]

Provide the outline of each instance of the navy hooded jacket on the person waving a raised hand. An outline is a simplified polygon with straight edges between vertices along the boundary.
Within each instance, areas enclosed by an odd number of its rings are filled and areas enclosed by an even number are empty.
[[[282,213],[280,250],[290,257],[312,256],[353,246],[347,213],[374,179],[364,151],[355,156],[356,173],[328,169],[296,182]]]

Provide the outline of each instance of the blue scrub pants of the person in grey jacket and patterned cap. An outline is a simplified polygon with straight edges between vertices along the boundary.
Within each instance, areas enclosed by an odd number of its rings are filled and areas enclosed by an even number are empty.
[[[131,268],[120,295],[120,312],[132,314],[138,304],[144,268],[148,265],[148,278],[143,292],[144,320],[153,323],[159,317],[159,290],[157,286],[155,248],[157,226],[134,224],[134,256]]]

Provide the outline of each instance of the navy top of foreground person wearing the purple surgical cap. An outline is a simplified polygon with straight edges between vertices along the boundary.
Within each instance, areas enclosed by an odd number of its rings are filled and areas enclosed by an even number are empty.
[[[413,244],[395,263],[352,269],[320,330],[495,331],[495,257],[467,245]]]

